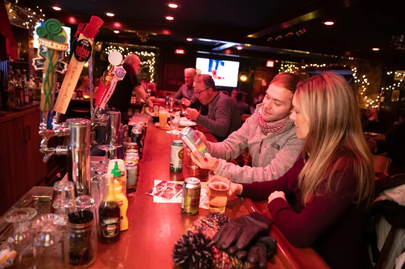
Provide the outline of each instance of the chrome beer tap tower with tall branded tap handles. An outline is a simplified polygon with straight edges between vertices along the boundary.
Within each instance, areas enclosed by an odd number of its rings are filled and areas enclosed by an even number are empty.
[[[49,19],[44,26],[37,28],[36,32],[39,35],[38,42],[40,45],[48,47],[45,61],[45,69],[43,76],[43,87],[41,89],[41,123],[39,124],[39,134],[43,137],[39,151],[43,152],[44,162],[47,162],[51,155],[67,155],[68,180],[74,182],[76,196],[90,194],[90,132],[91,127],[96,125],[107,125],[108,116],[102,116],[99,105],[96,107],[97,117],[92,116],[92,121],[87,119],[68,119],[66,122],[59,123],[60,114],[65,114],[70,99],[72,97],[77,80],[83,69],[84,64],[92,56],[92,44],[94,37],[102,26],[103,21],[95,16],[92,16],[89,24],[80,24],[78,26],[78,39],[74,42],[73,55],[66,71],[61,90],[52,109],[54,101],[56,75],[55,70],[57,61],[60,57],[60,52],[67,50],[66,32],[62,29],[61,23],[55,19]],[[118,52],[119,53],[119,52]],[[113,53],[114,55],[115,53]],[[110,82],[112,78],[117,77],[116,81],[124,78],[125,71],[121,72],[118,67],[122,61],[122,56],[119,53],[120,59],[112,61],[114,64],[110,66]],[[110,57],[109,57],[110,58]],[[111,57],[112,59],[114,57]],[[110,61],[111,62],[111,61]],[[92,75],[92,74],[90,74]],[[105,75],[104,75],[105,76]],[[103,77],[104,78],[104,77]],[[115,88],[114,84],[114,88]],[[105,86],[112,86],[111,83]],[[107,103],[114,88],[106,87],[109,95],[101,96],[99,102]],[[92,88],[91,88],[92,90]],[[98,97],[98,96],[97,96]],[[106,98],[106,100],[104,100]],[[99,98],[97,98],[99,99]],[[96,100],[97,101],[97,100]],[[93,102],[93,100],[91,100]],[[102,106],[102,108],[104,108]],[[55,116],[51,121],[52,112],[55,111]],[[120,121],[120,117],[118,118]],[[113,119],[112,121],[116,121]],[[93,122],[93,124],[92,124]],[[119,123],[118,123],[119,128]],[[117,128],[117,132],[118,132]],[[115,131],[115,129],[114,129]],[[67,146],[57,146],[55,148],[48,147],[48,141],[54,136],[68,136]],[[113,141],[116,143],[115,141]]]

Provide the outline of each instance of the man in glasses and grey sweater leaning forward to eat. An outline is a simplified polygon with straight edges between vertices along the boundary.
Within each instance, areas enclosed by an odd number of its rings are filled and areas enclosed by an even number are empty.
[[[240,128],[242,120],[236,103],[227,95],[218,92],[210,75],[194,77],[194,95],[203,105],[208,104],[208,116],[195,109],[187,109],[187,117],[207,128],[219,141]]]

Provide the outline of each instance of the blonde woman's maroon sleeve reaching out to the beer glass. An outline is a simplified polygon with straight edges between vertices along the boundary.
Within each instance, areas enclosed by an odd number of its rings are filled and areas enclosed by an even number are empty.
[[[277,180],[264,182],[241,183],[243,191],[241,196],[255,200],[267,200],[274,191],[289,192],[297,187],[298,175],[304,167],[304,160],[300,156],[293,167],[284,176]],[[233,178],[232,178],[233,181]]]

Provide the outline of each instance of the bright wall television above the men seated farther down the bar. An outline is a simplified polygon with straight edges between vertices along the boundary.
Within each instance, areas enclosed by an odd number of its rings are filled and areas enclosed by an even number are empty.
[[[239,62],[197,58],[195,68],[201,74],[211,75],[216,86],[237,86]]]

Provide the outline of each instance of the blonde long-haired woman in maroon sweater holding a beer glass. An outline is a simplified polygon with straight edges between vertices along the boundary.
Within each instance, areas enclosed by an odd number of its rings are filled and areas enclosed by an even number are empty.
[[[272,220],[289,242],[313,247],[332,268],[361,268],[374,172],[353,91],[341,76],[325,73],[300,82],[293,105],[302,156],[277,180],[232,183],[229,192],[268,198]],[[295,195],[293,205],[285,193]]]

